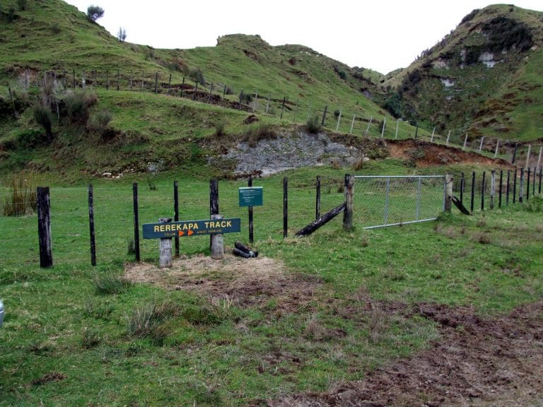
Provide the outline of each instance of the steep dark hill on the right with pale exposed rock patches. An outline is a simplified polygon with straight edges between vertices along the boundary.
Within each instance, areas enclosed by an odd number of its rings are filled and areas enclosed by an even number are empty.
[[[543,129],[543,13],[512,5],[465,16],[385,86],[403,113],[455,134],[528,141]]]

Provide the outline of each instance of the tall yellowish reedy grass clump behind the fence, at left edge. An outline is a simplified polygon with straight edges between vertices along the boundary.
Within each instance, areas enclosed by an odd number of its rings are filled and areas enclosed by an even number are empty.
[[[4,216],[33,215],[37,208],[37,180],[33,172],[13,175],[0,201]]]

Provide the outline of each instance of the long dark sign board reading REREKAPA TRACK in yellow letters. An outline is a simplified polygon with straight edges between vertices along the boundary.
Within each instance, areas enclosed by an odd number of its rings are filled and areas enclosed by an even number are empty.
[[[241,230],[241,219],[180,220],[168,223],[144,223],[144,239],[168,239],[236,233]]]

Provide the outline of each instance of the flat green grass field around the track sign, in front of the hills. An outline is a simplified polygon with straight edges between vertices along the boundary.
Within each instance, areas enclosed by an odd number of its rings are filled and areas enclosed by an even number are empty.
[[[391,162],[366,170],[394,168],[409,170]],[[330,186],[329,192],[323,187],[322,211],[343,201],[337,191],[343,172],[316,171],[286,174],[290,235],[315,216],[317,173]],[[283,240],[276,218],[281,177],[255,180],[264,187],[264,206],[255,208],[255,246],[260,256],[284,262],[300,285],[310,285],[310,294],[291,297],[293,307],[285,302],[291,286],[247,303],[119,279],[133,259],[126,181],[95,183],[96,268],[89,266],[86,186],[52,186],[53,269],[37,266],[35,217],[0,218],[0,296],[7,312],[0,406],[264,405],[280,394],[362,379],[438,339],[436,326],[419,314],[387,312],[395,304],[467,305],[484,316],[543,297],[541,198],[378,230],[345,232],[340,219],[332,220],[310,237]],[[157,179],[156,191],[139,185],[142,223],[173,213],[170,177]],[[237,201],[242,185],[221,182],[219,195],[221,213],[240,216],[245,229],[246,210]],[[209,215],[208,188],[180,179],[180,218]],[[363,198],[355,193],[355,213],[357,206]],[[246,241],[247,231],[226,235],[227,247],[237,238]],[[181,240],[189,256],[209,253],[208,246],[206,237]],[[142,258],[156,263],[156,240],[144,242]],[[142,325],[146,317],[150,322]]]

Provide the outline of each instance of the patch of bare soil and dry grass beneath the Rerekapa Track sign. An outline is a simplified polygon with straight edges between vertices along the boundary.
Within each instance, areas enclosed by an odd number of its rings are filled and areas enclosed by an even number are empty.
[[[200,295],[225,297],[236,305],[262,305],[271,298],[276,309],[293,311],[310,302],[320,287],[314,276],[291,273],[281,261],[268,257],[243,259],[225,254],[183,257],[171,269],[152,264],[129,264],[125,276],[135,283],[151,283],[167,290],[187,290]]]

